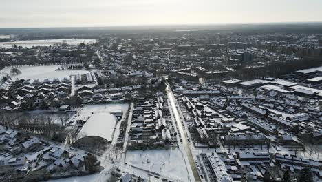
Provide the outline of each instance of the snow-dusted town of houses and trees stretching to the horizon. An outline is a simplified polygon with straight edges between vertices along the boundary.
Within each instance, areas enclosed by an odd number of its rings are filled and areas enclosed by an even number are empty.
[[[0,180],[322,181],[321,28],[0,30]]]

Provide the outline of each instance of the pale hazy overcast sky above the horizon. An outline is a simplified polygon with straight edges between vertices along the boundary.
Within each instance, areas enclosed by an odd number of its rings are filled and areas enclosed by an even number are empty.
[[[322,22],[322,0],[0,0],[0,28]]]

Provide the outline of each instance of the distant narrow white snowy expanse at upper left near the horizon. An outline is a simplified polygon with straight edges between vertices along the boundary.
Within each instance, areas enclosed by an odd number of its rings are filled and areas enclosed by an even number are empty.
[[[32,48],[34,46],[51,46],[55,44],[67,43],[68,45],[78,45],[80,43],[93,44],[96,39],[47,39],[47,40],[32,40],[32,41],[14,41],[1,42],[0,47],[12,48],[12,45],[22,46],[23,48]]]

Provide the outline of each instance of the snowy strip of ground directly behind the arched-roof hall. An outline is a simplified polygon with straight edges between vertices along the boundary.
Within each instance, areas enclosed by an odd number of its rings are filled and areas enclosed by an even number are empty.
[[[97,112],[110,112],[111,110],[122,110],[123,114],[127,112],[129,104],[127,103],[111,103],[111,104],[96,104],[96,105],[85,105],[81,114],[97,113]]]

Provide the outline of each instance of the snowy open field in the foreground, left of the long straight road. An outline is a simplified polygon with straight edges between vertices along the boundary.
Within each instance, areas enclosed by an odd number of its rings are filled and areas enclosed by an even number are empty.
[[[178,148],[169,150],[127,151],[129,165],[188,181],[188,172],[182,153]]]

